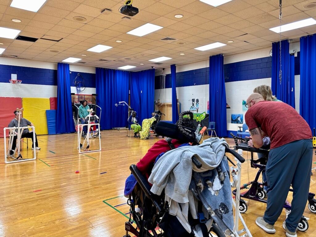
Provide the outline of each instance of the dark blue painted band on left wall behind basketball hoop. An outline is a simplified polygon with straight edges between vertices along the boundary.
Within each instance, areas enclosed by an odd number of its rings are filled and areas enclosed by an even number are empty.
[[[74,71],[70,74],[71,86],[75,86],[75,78],[78,73],[84,78],[86,87],[95,88],[94,73]],[[23,84],[57,86],[57,70],[0,64],[0,82],[9,83],[11,74],[17,74],[17,79],[22,80]]]

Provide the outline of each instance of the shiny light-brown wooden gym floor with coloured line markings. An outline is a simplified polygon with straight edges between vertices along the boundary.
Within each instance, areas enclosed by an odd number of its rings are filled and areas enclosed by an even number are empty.
[[[76,149],[77,134],[38,136],[41,150],[36,152],[37,160],[12,164],[4,164],[3,138],[0,139],[0,236],[120,237],[125,234],[129,206],[123,192],[129,166],[136,164],[159,138],[126,137],[126,130],[101,134],[102,151],[81,155]],[[93,139],[91,147],[97,141]],[[227,140],[234,145],[233,139]],[[31,141],[28,149],[22,144],[23,158],[32,155]],[[245,159],[250,159],[250,154],[243,154]],[[246,161],[242,165],[241,184],[253,180],[256,172]],[[314,172],[311,192],[316,192],[315,182]],[[265,204],[250,200],[247,212],[242,214],[254,237],[270,236],[254,222],[264,210]],[[315,237],[316,214],[306,207],[304,215],[310,218],[309,229],[298,232],[298,236]],[[284,219],[283,211],[273,236],[285,236]]]

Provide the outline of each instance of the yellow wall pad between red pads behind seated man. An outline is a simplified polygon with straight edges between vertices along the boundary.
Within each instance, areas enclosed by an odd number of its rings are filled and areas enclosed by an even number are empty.
[[[46,110],[51,108],[49,99],[23,98],[22,104],[24,108],[23,117],[34,124],[36,134],[48,134]]]

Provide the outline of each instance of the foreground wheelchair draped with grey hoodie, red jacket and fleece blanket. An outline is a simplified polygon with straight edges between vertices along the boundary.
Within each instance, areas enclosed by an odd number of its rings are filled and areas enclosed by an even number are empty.
[[[224,237],[232,232],[229,167],[224,156],[228,145],[219,138],[199,145],[197,137],[201,136],[194,127],[193,113],[188,113],[190,119],[181,113],[177,125],[159,122],[157,133],[169,139],[156,142],[136,166],[131,166],[141,183],[133,174],[129,176],[124,195],[129,197],[130,213],[139,231],[126,222],[126,237],[128,232],[138,237],[203,237],[210,232]],[[193,126],[185,127],[184,123]],[[201,162],[201,166],[192,162]],[[163,234],[150,234],[149,230],[156,232],[157,225]]]

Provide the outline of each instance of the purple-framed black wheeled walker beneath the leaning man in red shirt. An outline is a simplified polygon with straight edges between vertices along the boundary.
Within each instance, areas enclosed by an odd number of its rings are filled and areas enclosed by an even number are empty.
[[[245,199],[251,199],[254,201],[261,202],[261,203],[267,203],[267,200],[264,199],[266,197],[266,193],[264,192],[264,186],[267,186],[267,182],[264,182],[264,183],[258,182],[258,179],[261,176],[261,173],[265,171],[265,167],[266,167],[266,163],[267,163],[268,155],[269,155],[269,150],[249,147],[247,144],[248,139],[235,137],[234,134],[231,134],[231,135],[233,136],[234,141],[236,143],[236,146],[235,146],[236,149],[242,149],[244,151],[247,151],[247,152],[249,151],[251,153],[250,166],[252,168],[259,168],[255,179],[247,184],[242,185],[241,187],[240,185],[236,185],[237,189],[233,191],[233,194],[236,196],[239,196],[238,190],[248,189],[248,191],[240,194],[240,197],[243,197]],[[243,141],[243,143],[238,144],[238,139]],[[258,160],[254,160],[253,158],[254,152],[263,154],[263,157]],[[248,188],[249,185],[250,185],[250,188]],[[289,191],[293,192],[293,189],[290,189]],[[315,196],[314,193],[311,193],[311,192],[308,193],[307,201],[308,201],[308,209],[311,212],[316,213],[316,199],[314,199],[314,196]],[[245,213],[248,208],[246,201],[243,199],[240,199],[239,202],[240,202],[240,212]],[[287,214],[291,210],[291,206],[287,204],[284,204],[283,208],[286,210]],[[308,229],[308,222],[307,222],[308,219],[309,218],[302,216],[299,222],[299,225],[297,227],[297,230],[306,231]]]

